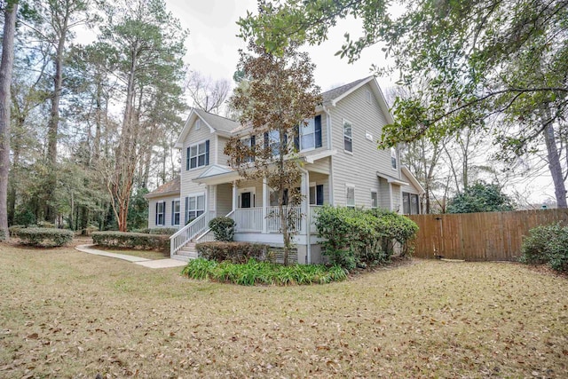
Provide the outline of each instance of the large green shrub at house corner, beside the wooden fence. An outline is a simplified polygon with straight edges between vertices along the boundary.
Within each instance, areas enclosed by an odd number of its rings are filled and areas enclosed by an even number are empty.
[[[395,242],[402,252],[418,232],[409,218],[384,209],[353,209],[324,206],[318,210],[316,227],[323,238],[322,253],[332,264],[347,270],[357,265],[388,262]]]

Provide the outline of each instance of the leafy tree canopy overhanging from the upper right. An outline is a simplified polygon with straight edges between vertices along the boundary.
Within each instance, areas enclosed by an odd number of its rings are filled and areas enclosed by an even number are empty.
[[[241,36],[279,53],[290,42],[323,42],[347,17],[362,20],[362,36],[346,34],[338,55],[351,61],[383,43],[392,64],[376,65],[377,74],[421,83],[395,101],[380,146],[492,130],[501,159],[546,152],[556,201],[566,207],[568,1],[262,0],[240,20]]]

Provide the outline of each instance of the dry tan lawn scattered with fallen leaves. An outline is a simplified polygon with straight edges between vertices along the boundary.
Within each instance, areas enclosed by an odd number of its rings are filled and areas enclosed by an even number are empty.
[[[311,287],[0,244],[0,377],[566,377],[565,278],[415,261]]]

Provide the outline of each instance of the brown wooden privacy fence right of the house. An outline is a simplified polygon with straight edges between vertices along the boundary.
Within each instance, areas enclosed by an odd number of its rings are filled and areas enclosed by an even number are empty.
[[[420,228],[414,257],[516,261],[523,237],[538,225],[568,225],[568,209],[408,216]]]

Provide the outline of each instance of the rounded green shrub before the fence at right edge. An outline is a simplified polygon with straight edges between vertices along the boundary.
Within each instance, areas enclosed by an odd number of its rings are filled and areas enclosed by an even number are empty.
[[[521,247],[521,262],[546,263],[556,271],[568,271],[568,226],[540,225],[529,233]]]

